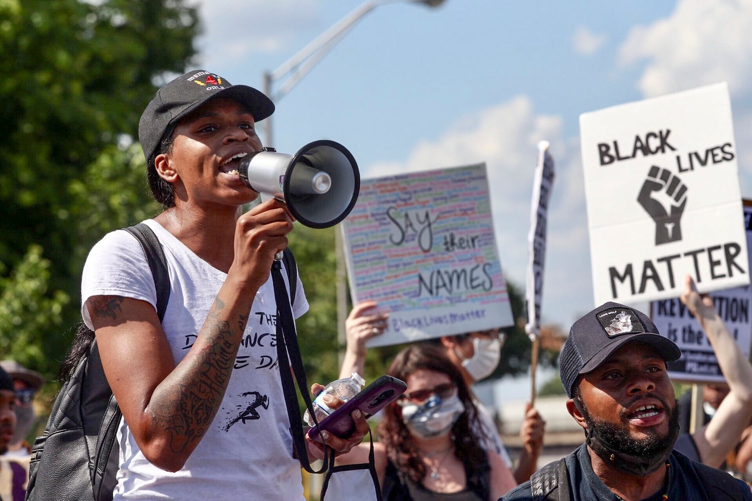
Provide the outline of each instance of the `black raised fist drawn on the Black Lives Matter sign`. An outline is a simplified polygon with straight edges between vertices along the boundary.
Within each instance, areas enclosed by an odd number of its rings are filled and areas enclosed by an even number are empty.
[[[637,201],[656,223],[656,246],[681,240],[679,220],[687,205],[687,186],[675,174],[653,165]]]

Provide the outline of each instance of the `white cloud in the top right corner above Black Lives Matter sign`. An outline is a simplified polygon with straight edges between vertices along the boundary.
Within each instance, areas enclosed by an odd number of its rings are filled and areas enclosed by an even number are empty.
[[[638,88],[646,97],[727,81],[749,93],[752,0],[680,0],[666,19],[637,26],[620,47],[620,64],[647,60]]]

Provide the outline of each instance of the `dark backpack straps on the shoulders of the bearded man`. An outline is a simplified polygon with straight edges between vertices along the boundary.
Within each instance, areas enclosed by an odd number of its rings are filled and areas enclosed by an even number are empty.
[[[714,501],[744,499],[736,478],[723,470],[696,461],[692,462],[692,466],[710,499]],[[559,484],[565,488],[559,489]],[[566,469],[566,458],[562,457],[558,461],[548,463],[533,473],[530,477],[530,490],[533,501],[569,501],[569,473]]]

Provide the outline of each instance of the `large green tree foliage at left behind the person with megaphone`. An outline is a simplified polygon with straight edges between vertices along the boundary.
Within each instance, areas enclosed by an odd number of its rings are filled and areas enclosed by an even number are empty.
[[[3,323],[0,346],[49,379],[79,317],[86,252],[155,210],[132,138],[155,83],[194,55],[188,5],[0,0],[0,294],[28,333]]]

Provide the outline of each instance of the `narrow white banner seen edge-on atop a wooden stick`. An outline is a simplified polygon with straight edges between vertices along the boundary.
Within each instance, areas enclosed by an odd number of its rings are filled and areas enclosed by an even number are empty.
[[[527,303],[525,332],[531,340],[541,335],[541,297],[546,258],[548,202],[554,178],[553,158],[548,152],[548,146],[547,141],[538,143],[538,164],[535,165],[530,204],[530,233],[527,237],[529,262],[525,289]]]

